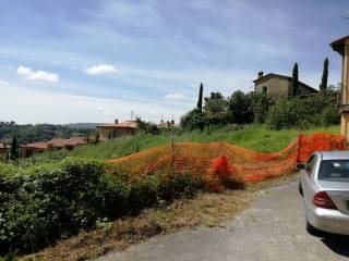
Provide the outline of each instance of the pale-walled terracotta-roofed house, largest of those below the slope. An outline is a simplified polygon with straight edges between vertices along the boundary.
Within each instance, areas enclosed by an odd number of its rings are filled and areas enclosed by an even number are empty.
[[[116,120],[112,124],[97,125],[97,130],[100,135],[100,139],[110,139],[134,135],[139,130],[139,126],[134,121],[119,123],[118,120]]]

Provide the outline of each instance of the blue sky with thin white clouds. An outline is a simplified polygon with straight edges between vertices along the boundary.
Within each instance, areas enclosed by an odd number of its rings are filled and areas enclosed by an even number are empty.
[[[347,0],[0,0],[0,121],[179,121],[204,95],[252,91],[258,71],[318,88],[341,59]]]

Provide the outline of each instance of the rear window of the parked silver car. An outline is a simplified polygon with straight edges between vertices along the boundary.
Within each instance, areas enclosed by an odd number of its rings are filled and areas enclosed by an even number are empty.
[[[349,182],[349,160],[322,161],[318,179],[328,182]]]

